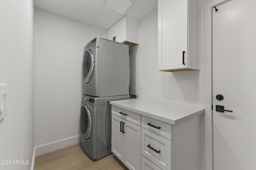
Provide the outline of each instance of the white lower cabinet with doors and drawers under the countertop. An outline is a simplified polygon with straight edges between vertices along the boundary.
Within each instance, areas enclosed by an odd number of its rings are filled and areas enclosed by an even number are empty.
[[[130,170],[199,170],[200,115],[175,125],[112,107],[112,152]]]

